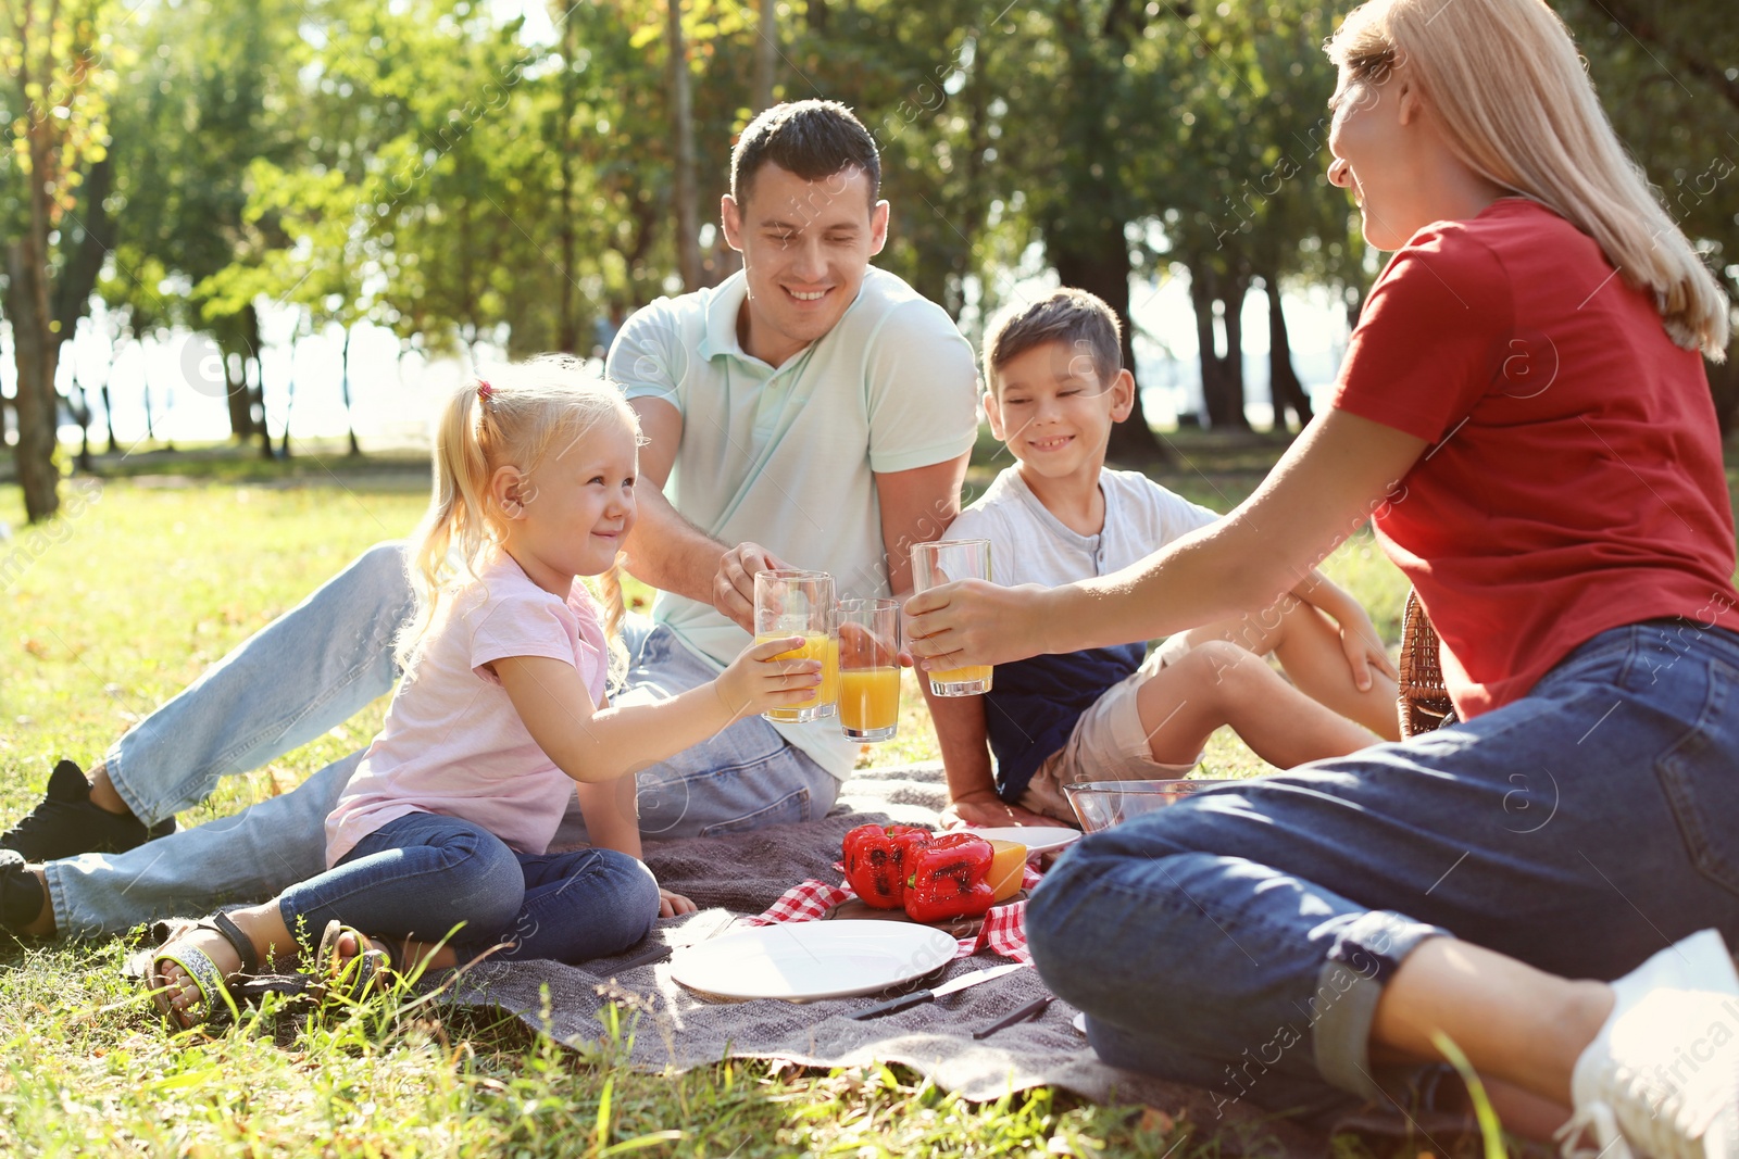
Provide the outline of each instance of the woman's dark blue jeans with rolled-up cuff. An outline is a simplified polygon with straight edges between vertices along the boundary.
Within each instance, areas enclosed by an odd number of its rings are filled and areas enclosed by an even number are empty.
[[[1083,838],[1026,912],[1108,1062],[1216,1105],[1334,1114],[1383,983],[1457,937],[1616,978],[1702,928],[1739,944],[1739,636],[1602,632],[1522,700]]]

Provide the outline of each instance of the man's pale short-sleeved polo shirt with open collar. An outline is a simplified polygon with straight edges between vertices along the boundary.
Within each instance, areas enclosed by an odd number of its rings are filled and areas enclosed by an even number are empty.
[[[892,594],[875,474],[946,462],[977,438],[972,346],[948,313],[871,268],[840,321],[774,368],[744,353],[741,271],[635,313],[605,367],[630,400],[682,414],[664,495],[722,544],[753,542],[793,566],[830,572],[835,594]],[[711,605],[666,591],[652,619],[715,669],[750,636]],[[857,744],[838,721],[774,725],[835,777]]]

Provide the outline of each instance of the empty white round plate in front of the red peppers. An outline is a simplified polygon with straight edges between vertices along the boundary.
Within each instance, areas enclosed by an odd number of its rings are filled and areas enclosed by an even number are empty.
[[[718,997],[824,997],[876,994],[949,963],[958,942],[901,921],[802,921],[713,938],[671,957],[671,977]]]

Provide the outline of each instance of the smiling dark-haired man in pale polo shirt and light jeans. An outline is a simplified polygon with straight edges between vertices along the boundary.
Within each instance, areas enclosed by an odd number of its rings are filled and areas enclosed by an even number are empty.
[[[643,424],[650,483],[626,566],[659,589],[650,622],[624,626],[623,697],[675,695],[736,655],[755,572],[824,568],[842,596],[904,591],[909,546],[958,511],[972,351],[946,313],[870,266],[887,240],[878,191],[875,142],[847,108],[767,109],[737,141],[720,203],[743,271],[659,299],[617,335],[607,370]],[[409,610],[398,547],[374,547],[122,737],[92,782],[63,761],[42,805],[0,836],[16,850],[0,864],[0,924],[97,937],[320,872],[323,820],[360,752],[237,817],[132,846],[223,775],[391,688]],[[640,772],[642,831],[821,817],[852,752],[835,721],[739,721]],[[570,810],[558,839],[581,836]]]

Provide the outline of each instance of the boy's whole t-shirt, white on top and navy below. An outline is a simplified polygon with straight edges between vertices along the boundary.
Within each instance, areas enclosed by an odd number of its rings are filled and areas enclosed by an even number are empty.
[[[1101,471],[1099,492],[1104,527],[1082,535],[1038,502],[1019,467],[1009,467],[943,539],[988,539],[998,584],[1056,587],[1125,568],[1219,520],[1139,471]],[[1021,799],[1038,766],[1068,744],[1099,697],[1141,666],[1143,652],[1143,643],[1129,643],[996,666],[984,697],[984,730],[1005,801]]]

